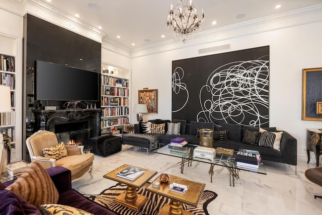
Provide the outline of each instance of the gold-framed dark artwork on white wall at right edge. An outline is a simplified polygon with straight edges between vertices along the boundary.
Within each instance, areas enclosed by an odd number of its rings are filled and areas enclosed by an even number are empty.
[[[302,120],[322,121],[322,67],[302,72]]]

